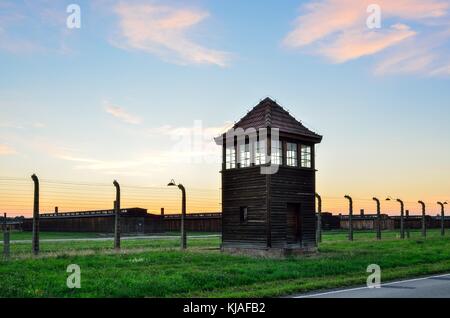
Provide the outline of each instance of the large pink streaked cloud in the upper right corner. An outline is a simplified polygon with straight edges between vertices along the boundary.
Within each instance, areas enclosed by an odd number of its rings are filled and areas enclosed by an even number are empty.
[[[378,0],[382,28],[369,29],[368,0],[321,0],[302,6],[294,29],[283,39],[302,49],[344,63],[377,56],[376,74],[448,73],[450,3],[444,0]],[[412,53],[414,52],[414,53]],[[447,64],[448,65],[448,64]]]

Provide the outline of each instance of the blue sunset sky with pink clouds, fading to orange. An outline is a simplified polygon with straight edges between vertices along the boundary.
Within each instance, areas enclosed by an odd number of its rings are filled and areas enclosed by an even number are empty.
[[[189,211],[220,211],[212,138],[269,96],[324,136],[324,209],[390,195],[437,213],[449,18],[449,0],[1,0],[0,212],[29,214],[32,173],[43,210],[108,208],[117,179],[126,204],[176,211],[175,179]]]

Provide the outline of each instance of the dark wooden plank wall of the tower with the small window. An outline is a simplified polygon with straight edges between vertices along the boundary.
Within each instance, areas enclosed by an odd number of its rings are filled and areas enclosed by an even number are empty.
[[[222,171],[222,243],[229,246],[266,247],[266,176],[260,167]],[[240,207],[248,207],[241,224]]]

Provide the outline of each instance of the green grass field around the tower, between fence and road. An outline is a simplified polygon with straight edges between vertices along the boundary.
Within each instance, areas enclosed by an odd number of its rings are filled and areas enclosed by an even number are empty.
[[[112,242],[42,243],[31,257],[30,244],[13,244],[14,258],[0,262],[1,297],[270,297],[321,288],[362,284],[369,264],[390,280],[450,271],[450,235],[430,231],[426,240],[412,232],[324,234],[320,253],[308,257],[263,259],[218,251],[220,238],[128,240],[115,253]],[[68,289],[66,268],[81,267],[81,289]]]

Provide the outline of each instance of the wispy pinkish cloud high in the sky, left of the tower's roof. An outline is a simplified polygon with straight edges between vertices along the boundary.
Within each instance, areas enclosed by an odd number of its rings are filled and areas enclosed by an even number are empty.
[[[119,17],[120,36],[112,43],[117,47],[155,54],[179,64],[224,67],[228,63],[229,53],[204,47],[187,34],[209,16],[206,11],[125,2],[116,5],[114,11]]]

